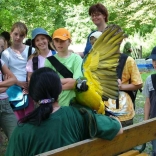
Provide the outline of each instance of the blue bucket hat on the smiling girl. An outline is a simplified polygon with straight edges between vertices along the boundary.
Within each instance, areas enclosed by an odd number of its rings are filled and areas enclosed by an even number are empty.
[[[48,33],[43,28],[35,28],[32,33],[32,46],[34,46],[34,39],[37,35],[46,35],[50,41],[52,41],[52,38],[48,35]]]

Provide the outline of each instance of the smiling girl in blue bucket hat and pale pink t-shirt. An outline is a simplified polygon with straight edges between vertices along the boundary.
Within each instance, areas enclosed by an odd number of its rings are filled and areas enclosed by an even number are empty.
[[[32,46],[35,47],[35,53],[30,56],[26,66],[28,82],[34,70],[44,67],[45,58],[56,54],[54,50],[50,50],[54,49],[50,44],[51,41],[52,38],[43,28],[36,28],[32,31]],[[37,58],[37,64],[34,63],[35,58]]]

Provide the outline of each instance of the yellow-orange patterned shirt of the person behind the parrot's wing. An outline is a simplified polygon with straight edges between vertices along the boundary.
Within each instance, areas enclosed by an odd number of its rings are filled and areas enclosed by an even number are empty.
[[[142,79],[138,67],[132,57],[128,57],[122,73],[122,84],[140,85]],[[119,109],[116,109],[116,100],[109,99],[105,102],[108,110],[117,113],[120,121],[130,120],[134,117],[135,111],[130,96],[123,92],[119,92]]]

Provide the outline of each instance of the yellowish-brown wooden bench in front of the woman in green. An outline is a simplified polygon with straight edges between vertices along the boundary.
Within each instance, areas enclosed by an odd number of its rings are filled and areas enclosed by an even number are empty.
[[[125,127],[123,134],[112,141],[99,138],[87,139],[38,156],[115,156],[120,153],[123,153],[120,156],[132,156],[139,152],[136,150],[129,151],[129,154],[124,152],[153,139],[156,139],[156,118]],[[138,156],[141,155],[148,154],[141,153]]]

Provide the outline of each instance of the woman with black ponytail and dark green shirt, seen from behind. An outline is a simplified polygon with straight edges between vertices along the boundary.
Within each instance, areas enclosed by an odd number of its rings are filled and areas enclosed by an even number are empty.
[[[34,156],[90,137],[112,140],[123,132],[117,118],[86,109],[93,119],[89,120],[74,106],[60,107],[58,96],[61,91],[60,78],[51,68],[43,67],[33,72],[29,94],[36,109],[19,121],[6,156]],[[94,131],[96,126],[98,129]],[[94,136],[90,135],[94,133]]]

